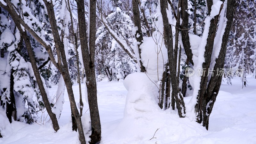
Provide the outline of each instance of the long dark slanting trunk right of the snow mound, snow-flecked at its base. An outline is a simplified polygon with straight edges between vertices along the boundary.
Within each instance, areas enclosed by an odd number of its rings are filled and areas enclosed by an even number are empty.
[[[178,113],[180,117],[184,117],[185,114],[185,103],[183,97],[180,94],[179,90],[179,82],[177,81],[177,61],[174,61],[174,52],[173,52],[173,42],[172,42],[172,28],[169,25],[166,9],[167,9],[167,1],[160,0],[160,7],[161,13],[163,17],[163,24],[164,24],[164,44],[167,48],[168,52],[168,62],[170,66],[170,76],[171,76],[171,83],[172,83],[172,95],[175,98],[176,107],[178,109]],[[176,58],[177,59],[177,58]],[[173,70],[175,69],[175,71]]]

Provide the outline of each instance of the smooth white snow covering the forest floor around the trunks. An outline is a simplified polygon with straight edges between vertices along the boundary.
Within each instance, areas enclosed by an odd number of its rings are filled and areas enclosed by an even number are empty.
[[[177,111],[162,111],[152,106],[153,111],[139,110],[135,117],[124,116],[127,90],[122,82],[98,82],[98,105],[102,128],[103,144],[255,144],[256,143],[256,80],[247,78],[248,86],[242,89],[239,78],[232,80],[233,85],[223,83],[210,116],[209,131],[188,118],[179,118]],[[54,96],[57,86],[49,92]],[[76,102],[79,102],[78,84],[73,85]],[[85,103],[84,85],[83,113],[88,113]],[[1,132],[1,144],[6,143],[79,143],[78,133],[72,132],[71,110],[67,92],[60,116],[60,130],[54,132],[49,116],[39,116],[41,122],[32,125],[13,122]],[[191,97],[184,98],[186,102]],[[151,105],[145,105],[151,108]],[[88,111],[87,111],[88,110]],[[141,115],[141,116],[140,116]],[[86,114],[84,114],[86,116]],[[82,120],[85,117],[82,117]],[[45,120],[43,120],[45,118]],[[44,123],[44,124],[42,124]],[[41,125],[40,125],[41,124]],[[159,129],[158,129],[159,128]],[[158,129],[158,130],[157,130]],[[156,131],[157,130],[157,131]],[[156,133],[155,133],[156,132]],[[155,133],[155,136],[154,136]],[[154,138],[153,138],[154,136]],[[153,138],[153,139],[151,139]],[[151,140],[150,140],[151,139]]]

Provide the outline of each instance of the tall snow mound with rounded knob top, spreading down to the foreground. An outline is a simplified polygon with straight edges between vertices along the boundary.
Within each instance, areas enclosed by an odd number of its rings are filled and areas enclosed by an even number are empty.
[[[145,73],[128,75],[124,86],[128,90],[124,118],[102,143],[160,144],[206,134],[205,128],[196,122],[179,118],[171,109],[161,110],[157,105],[158,89]]]

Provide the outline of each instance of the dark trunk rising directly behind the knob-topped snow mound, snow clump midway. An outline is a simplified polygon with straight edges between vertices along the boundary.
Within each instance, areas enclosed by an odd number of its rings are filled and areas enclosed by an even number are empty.
[[[133,12],[133,18],[134,18],[134,26],[138,28],[135,34],[135,38],[138,44],[139,48],[139,55],[140,55],[140,72],[146,72],[146,68],[143,66],[143,63],[141,61],[141,49],[140,45],[143,43],[143,35],[141,31],[141,25],[140,25],[140,10],[139,10],[139,2],[138,0],[132,0],[132,12]],[[140,35],[140,36],[139,36]],[[139,36],[139,37],[137,37]]]

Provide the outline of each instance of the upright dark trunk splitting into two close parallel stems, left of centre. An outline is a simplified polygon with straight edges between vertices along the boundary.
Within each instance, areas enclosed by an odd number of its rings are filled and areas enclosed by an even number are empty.
[[[97,103],[97,87],[94,69],[95,33],[96,33],[96,0],[90,0],[90,38],[87,44],[86,23],[84,16],[84,1],[77,0],[78,27],[86,74],[88,102],[92,121],[92,135],[90,143],[97,143],[101,139],[100,115]]]

